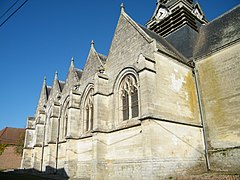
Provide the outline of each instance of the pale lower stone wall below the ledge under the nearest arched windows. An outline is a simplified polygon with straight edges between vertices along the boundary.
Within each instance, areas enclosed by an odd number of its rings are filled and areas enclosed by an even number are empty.
[[[74,178],[157,179],[205,170],[201,129],[179,128],[174,123],[146,120],[136,127],[96,133],[65,145],[69,149],[65,171]]]

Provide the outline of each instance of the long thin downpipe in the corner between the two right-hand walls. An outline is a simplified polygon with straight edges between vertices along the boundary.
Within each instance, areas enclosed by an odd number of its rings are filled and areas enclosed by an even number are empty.
[[[199,89],[199,77],[198,77],[198,70],[196,68],[196,61],[193,60],[194,63],[194,78],[195,78],[195,84],[196,84],[196,89],[197,89],[197,97],[198,97],[198,105],[199,105],[199,111],[200,111],[200,118],[201,118],[201,123],[203,127],[203,140],[204,140],[204,146],[205,146],[205,159],[206,159],[206,166],[207,166],[207,171],[210,171],[210,161],[209,161],[209,156],[208,156],[208,144],[207,144],[207,136],[206,136],[206,126],[205,126],[205,120],[204,120],[204,112],[203,112],[203,107],[202,107],[202,98],[201,98],[201,92]]]

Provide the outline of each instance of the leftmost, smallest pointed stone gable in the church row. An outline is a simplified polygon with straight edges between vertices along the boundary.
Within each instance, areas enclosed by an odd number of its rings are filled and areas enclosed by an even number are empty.
[[[47,86],[46,84],[46,77],[44,77],[44,81],[43,81],[43,85],[42,85],[42,90],[40,93],[40,97],[38,100],[38,105],[37,105],[37,109],[36,109],[36,113],[40,110],[44,109],[44,105],[46,105],[49,95],[51,92],[51,87]]]

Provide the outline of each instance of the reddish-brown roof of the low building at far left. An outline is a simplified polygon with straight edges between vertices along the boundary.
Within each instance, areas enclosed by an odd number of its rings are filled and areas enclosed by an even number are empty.
[[[0,131],[0,144],[17,145],[23,133],[25,133],[23,128],[6,127]]]

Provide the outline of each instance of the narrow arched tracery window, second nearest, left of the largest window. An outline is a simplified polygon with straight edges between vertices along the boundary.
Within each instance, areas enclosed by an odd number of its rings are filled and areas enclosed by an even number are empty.
[[[94,112],[94,106],[93,106],[93,88],[91,88],[88,92],[88,95],[85,100],[84,104],[84,110],[85,110],[85,123],[86,123],[86,131],[93,129],[93,112]]]

